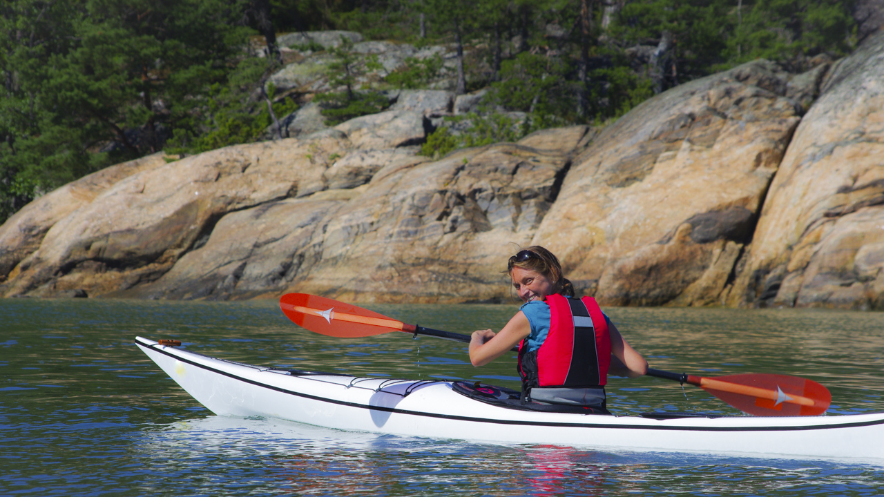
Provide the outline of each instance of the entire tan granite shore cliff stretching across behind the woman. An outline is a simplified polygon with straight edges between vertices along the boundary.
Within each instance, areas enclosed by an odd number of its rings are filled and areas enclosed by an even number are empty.
[[[416,155],[438,112],[417,95],[298,138],[145,157],[0,226],[0,294],[495,302],[507,256],[538,243],[609,305],[881,308],[882,78],[876,34],[809,73],[756,61],[603,129],[438,161]]]

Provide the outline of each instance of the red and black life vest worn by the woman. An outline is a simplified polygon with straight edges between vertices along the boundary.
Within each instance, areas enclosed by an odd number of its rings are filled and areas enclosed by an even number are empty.
[[[522,389],[605,386],[611,365],[611,336],[596,300],[552,294],[546,303],[550,306],[546,340],[533,352],[527,352],[527,338],[519,345]]]

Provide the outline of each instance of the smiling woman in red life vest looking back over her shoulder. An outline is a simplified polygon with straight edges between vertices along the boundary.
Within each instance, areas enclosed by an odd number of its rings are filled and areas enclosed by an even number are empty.
[[[559,259],[533,246],[509,258],[507,273],[522,307],[499,333],[473,332],[469,360],[483,366],[519,344],[522,402],[580,406],[607,413],[608,373],[637,378],[648,370],[595,299],[574,297]]]

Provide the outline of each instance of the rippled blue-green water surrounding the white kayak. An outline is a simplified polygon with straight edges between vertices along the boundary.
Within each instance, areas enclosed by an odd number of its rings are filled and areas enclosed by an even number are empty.
[[[372,309],[469,333],[498,329],[515,308]],[[659,369],[793,374],[829,387],[830,414],[884,410],[884,314],[607,311]],[[246,363],[518,387],[512,357],[474,368],[456,342],[324,337],[275,302],[0,300],[0,495],[884,494],[884,463],[498,446],[216,417],[134,346],[136,335]],[[658,378],[612,378],[608,394],[617,414],[736,414]]]

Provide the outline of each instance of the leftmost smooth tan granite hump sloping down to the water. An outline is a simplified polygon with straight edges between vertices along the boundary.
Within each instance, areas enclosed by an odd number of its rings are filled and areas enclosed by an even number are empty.
[[[91,202],[69,206],[0,288],[7,296],[72,289],[101,295],[157,279],[225,214],[324,189],[324,164],[346,147],[346,135],[324,133],[143,168]]]

